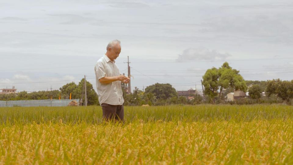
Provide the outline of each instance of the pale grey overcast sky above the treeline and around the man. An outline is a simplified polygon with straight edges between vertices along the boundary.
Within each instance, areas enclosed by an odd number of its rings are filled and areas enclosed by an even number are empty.
[[[121,40],[117,65],[132,88],[156,82],[200,89],[224,61],[246,80],[293,77],[291,0],[0,1],[0,88],[59,89]]]

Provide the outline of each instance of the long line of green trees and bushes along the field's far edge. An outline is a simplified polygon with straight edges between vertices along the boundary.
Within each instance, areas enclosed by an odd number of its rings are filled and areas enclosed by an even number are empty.
[[[254,84],[248,87],[250,84]],[[59,90],[38,91],[17,94],[0,94],[0,100],[45,100],[45,99],[81,99],[84,79],[78,84],[67,83]],[[281,81],[273,79],[268,81],[245,81],[239,71],[232,69],[227,62],[220,68],[208,69],[203,76],[204,97],[191,94],[192,100],[178,96],[175,88],[170,84],[156,83],[147,86],[145,91],[134,88],[132,94],[126,94],[127,84],[122,83],[124,105],[195,105],[195,104],[263,104],[287,103],[293,104],[293,80]],[[99,105],[98,95],[90,82],[86,82],[88,105]],[[227,102],[225,96],[233,90],[249,92],[249,96]],[[265,96],[262,95],[265,92]],[[84,103],[84,97],[83,97]]]

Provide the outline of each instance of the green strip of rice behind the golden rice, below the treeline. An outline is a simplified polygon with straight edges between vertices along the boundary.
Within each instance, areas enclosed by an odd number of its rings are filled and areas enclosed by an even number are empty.
[[[148,121],[252,121],[254,119],[293,119],[287,105],[197,105],[125,107],[125,122]],[[0,108],[1,123],[91,123],[102,120],[100,106]]]

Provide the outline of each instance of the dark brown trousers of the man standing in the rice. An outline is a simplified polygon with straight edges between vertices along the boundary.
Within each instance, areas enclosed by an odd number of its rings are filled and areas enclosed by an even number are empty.
[[[103,110],[103,119],[105,121],[109,120],[116,120],[124,122],[124,107],[123,105],[110,105],[103,103],[102,105]]]

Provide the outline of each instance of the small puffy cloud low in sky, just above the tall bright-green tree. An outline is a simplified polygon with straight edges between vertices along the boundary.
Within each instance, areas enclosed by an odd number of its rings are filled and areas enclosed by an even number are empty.
[[[195,61],[195,60],[225,60],[229,57],[228,53],[219,53],[216,50],[209,50],[205,47],[188,48],[178,55],[177,61]]]

